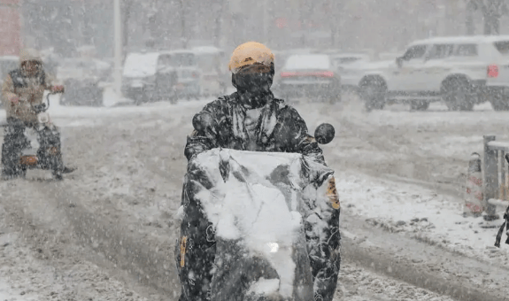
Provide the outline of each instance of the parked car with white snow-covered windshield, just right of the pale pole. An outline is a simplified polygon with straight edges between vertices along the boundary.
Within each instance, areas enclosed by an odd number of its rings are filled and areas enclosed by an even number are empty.
[[[143,104],[158,99],[177,102],[178,74],[169,52],[129,53],[122,71],[122,94]]]

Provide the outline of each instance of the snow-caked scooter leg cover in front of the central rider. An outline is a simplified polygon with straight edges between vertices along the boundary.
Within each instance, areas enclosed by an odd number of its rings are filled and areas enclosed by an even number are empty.
[[[182,294],[332,299],[340,261],[332,175],[292,153],[215,149],[191,160],[175,248]]]

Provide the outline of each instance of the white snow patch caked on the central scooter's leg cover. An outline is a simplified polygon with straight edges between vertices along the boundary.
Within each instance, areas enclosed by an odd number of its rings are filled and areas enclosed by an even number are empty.
[[[215,235],[229,243],[242,241],[246,252],[243,257],[266,259],[277,271],[280,282],[275,289],[284,297],[292,295],[297,264],[293,252],[297,252],[299,237],[304,235],[300,213],[304,205],[299,199],[302,199],[300,193],[306,181],[300,178],[300,158],[292,153],[215,149],[199,154],[195,161],[214,183],[213,189],[202,189],[197,198],[215,226]],[[235,176],[223,181],[218,168],[220,160],[228,160],[229,173]],[[287,176],[291,181],[285,189],[266,180],[281,166],[288,168]],[[274,215],[274,212],[277,213]],[[251,290],[258,293],[267,293],[266,289],[264,280],[251,286]]]

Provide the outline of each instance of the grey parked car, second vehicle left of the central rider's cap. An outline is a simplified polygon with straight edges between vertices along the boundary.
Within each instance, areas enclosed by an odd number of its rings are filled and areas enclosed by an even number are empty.
[[[179,98],[195,98],[201,95],[201,72],[198,68],[197,57],[191,50],[173,50],[167,52],[171,66],[178,74],[176,94]]]

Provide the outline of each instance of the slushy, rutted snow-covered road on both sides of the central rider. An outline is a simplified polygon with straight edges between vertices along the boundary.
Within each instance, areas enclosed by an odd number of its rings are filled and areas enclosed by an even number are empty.
[[[344,99],[333,106],[297,104],[311,130],[321,122],[336,127],[335,141],[323,147],[336,170],[343,208],[344,264],[336,298],[460,296],[433,285],[440,278],[486,292],[486,299],[497,299],[490,298],[494,292],[507,294],[506,280],[497,277],[509,267],[509,248],[491,248],[497,229],[461,217],[461,204],[470,153],[482,151],[482,135],[509,140],[509,112],[493,112],[489,105],[447,112],[433,104],[429,112],[393,105],[367,113],[355,97]],[[62,127],[66,161],[79,170],[62,182],[36,181],[49,176],[38,172],[30,172],[27,181],[0,181],[0,262],[9,266],[0,269],[0,297],[176,296],[174,213],[186,168],[183,146],[193,113],[205,103],[53,105],[50,114]],[[3,118],[0,112],[0,122]],[[429,252],[416,254],[419,248]],[[348,258],[363,250],[366,256],[394,259],[395,270],[404,263],[433,279],[428,284],[419,277],[405,279]],[[441,266],[445,259],[464,265]],[[484,274],[490,270],[490,277]]]

